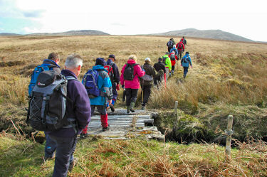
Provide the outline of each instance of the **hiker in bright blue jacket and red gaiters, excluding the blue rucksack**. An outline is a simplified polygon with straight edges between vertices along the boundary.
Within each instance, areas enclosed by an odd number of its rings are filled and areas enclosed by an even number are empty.
[[[90,98],[91,104],[91,116],[95,112],[95,107],[100,113],[100,121],[103,128],[103,132],[109,129],[108,125],[108,114],[107,114],[107,103],[111,104],[112,100],[112,84],[110,77],[108,76],[108,70],[105,70],[105,59],[97,58],[93,70],[99,73],[98,77],[98,88],[100,89],[100,96],[95,98]],[[87,127],[83,129],[83,132],[80,134],[81,138],[87,136]]]

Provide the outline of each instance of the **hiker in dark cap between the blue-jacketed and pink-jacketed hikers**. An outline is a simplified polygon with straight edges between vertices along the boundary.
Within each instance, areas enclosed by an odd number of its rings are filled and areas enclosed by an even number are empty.
[[[119,69],[117,68],[115,60],[116,60],[115,55],[111,54],[108,56],[107,65],[112,66],[112,70],[114,73],[114,78],[110,78],[112,83],[112,102],[110,104],[110,109],[112,112],[115,111],[114,105],[117,100],[117,90],[120,90],[120,72]]]

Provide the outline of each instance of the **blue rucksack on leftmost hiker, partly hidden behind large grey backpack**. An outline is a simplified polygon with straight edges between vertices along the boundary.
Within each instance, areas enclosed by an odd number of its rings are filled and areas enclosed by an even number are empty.
[[[51,64],[43,63],[42,65],[36,66],[36,68],[33,70],[33,73],[31,74],[31,82],[30,85],[28,85],[29,97],[31,97],[31,91],[33,90],[33,87],[36,85],[38,75],[44,70],[53,70],[53,68],[51,68],[50,66]]]

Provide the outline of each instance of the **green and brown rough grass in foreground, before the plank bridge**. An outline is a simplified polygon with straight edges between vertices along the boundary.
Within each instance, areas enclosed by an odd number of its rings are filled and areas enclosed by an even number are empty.
[[[53,161],[43,161],[43,145],[18,137],[0,134],[1,174],[51,176]],[[226,163],[224,147],[216,144],[84,139],[78,141],[78,164],[69,176],[266,176],[267,144],[236,144]]]

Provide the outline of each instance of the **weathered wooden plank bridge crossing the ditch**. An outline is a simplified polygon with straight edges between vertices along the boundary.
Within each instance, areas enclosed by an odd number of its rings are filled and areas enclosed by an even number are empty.
[[[146,139],[164,141],[164,135],[154,126],[152,112],[136,109],[134,113],[127,114],[126,109],[115,109],[108,112],[110,129],[103,132],[98,113],[91,117],[88,124],[88,136],[103,136],[105,139],[132,139],[137,136]]]

